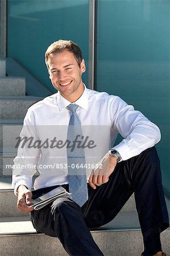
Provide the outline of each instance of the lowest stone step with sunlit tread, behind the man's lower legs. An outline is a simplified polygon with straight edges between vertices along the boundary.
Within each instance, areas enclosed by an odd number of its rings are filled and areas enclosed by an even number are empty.
[[[140,256],[143,240],[135,214],[120,213],[110,228],[103,226],[92,231],[94,240],[105,256]],[[131,227],[132,222],[136,228]],[[163,250],[167,256],[170,255],[169,236],[170,229],[161,234]],[[58,238],[36,233],[28,216],[1,218],[0,243],[0,254],[3,256],[68,255]]]

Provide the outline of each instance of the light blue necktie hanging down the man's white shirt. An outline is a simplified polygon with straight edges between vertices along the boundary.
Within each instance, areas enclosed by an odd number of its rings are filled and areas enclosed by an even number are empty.
[[[68,141],[73,142],[76,136],[79,135],[78,141],[82,141],[81,123],[76,113],[78,106],[76,104],[70,104],[67,108],[71,110],[71,119],[69,121],[67,139]],[[88,200],[86,168],[84,167],[84,148],[77,148],[76,145],[76,147],[72,150],[72,148],[67,147],[67,158],[69,192],[72,193],[73,201],[75,201],[81,207],[86,200]],[[79,168],[76,168],[76,165]]]

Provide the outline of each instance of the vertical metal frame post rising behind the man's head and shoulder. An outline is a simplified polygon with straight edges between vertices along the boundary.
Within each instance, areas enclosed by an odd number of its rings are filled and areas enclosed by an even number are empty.
[[[94,90],[95,0],[89,0],[89,89]]]

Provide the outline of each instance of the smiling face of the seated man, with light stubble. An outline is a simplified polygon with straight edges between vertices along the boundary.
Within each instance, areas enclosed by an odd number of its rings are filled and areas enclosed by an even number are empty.
[[[85,72],[84,60],[79,67],[72,52],[64,50],[52,53],[48,60],[49,78],[52,85],[68,101],[74,102],[84,92],[82,73]]]

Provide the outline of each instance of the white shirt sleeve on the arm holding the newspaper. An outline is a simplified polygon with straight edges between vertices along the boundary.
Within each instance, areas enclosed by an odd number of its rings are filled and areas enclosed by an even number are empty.
[[[34,147],[39,140],[36,132],[34,113],[28,110],[20,132],[17,156],[14,158],[13,181],[14,193],[19,185],[32,188],[32,176],[36,173],[36,166],[40,159],[40,148]]]

